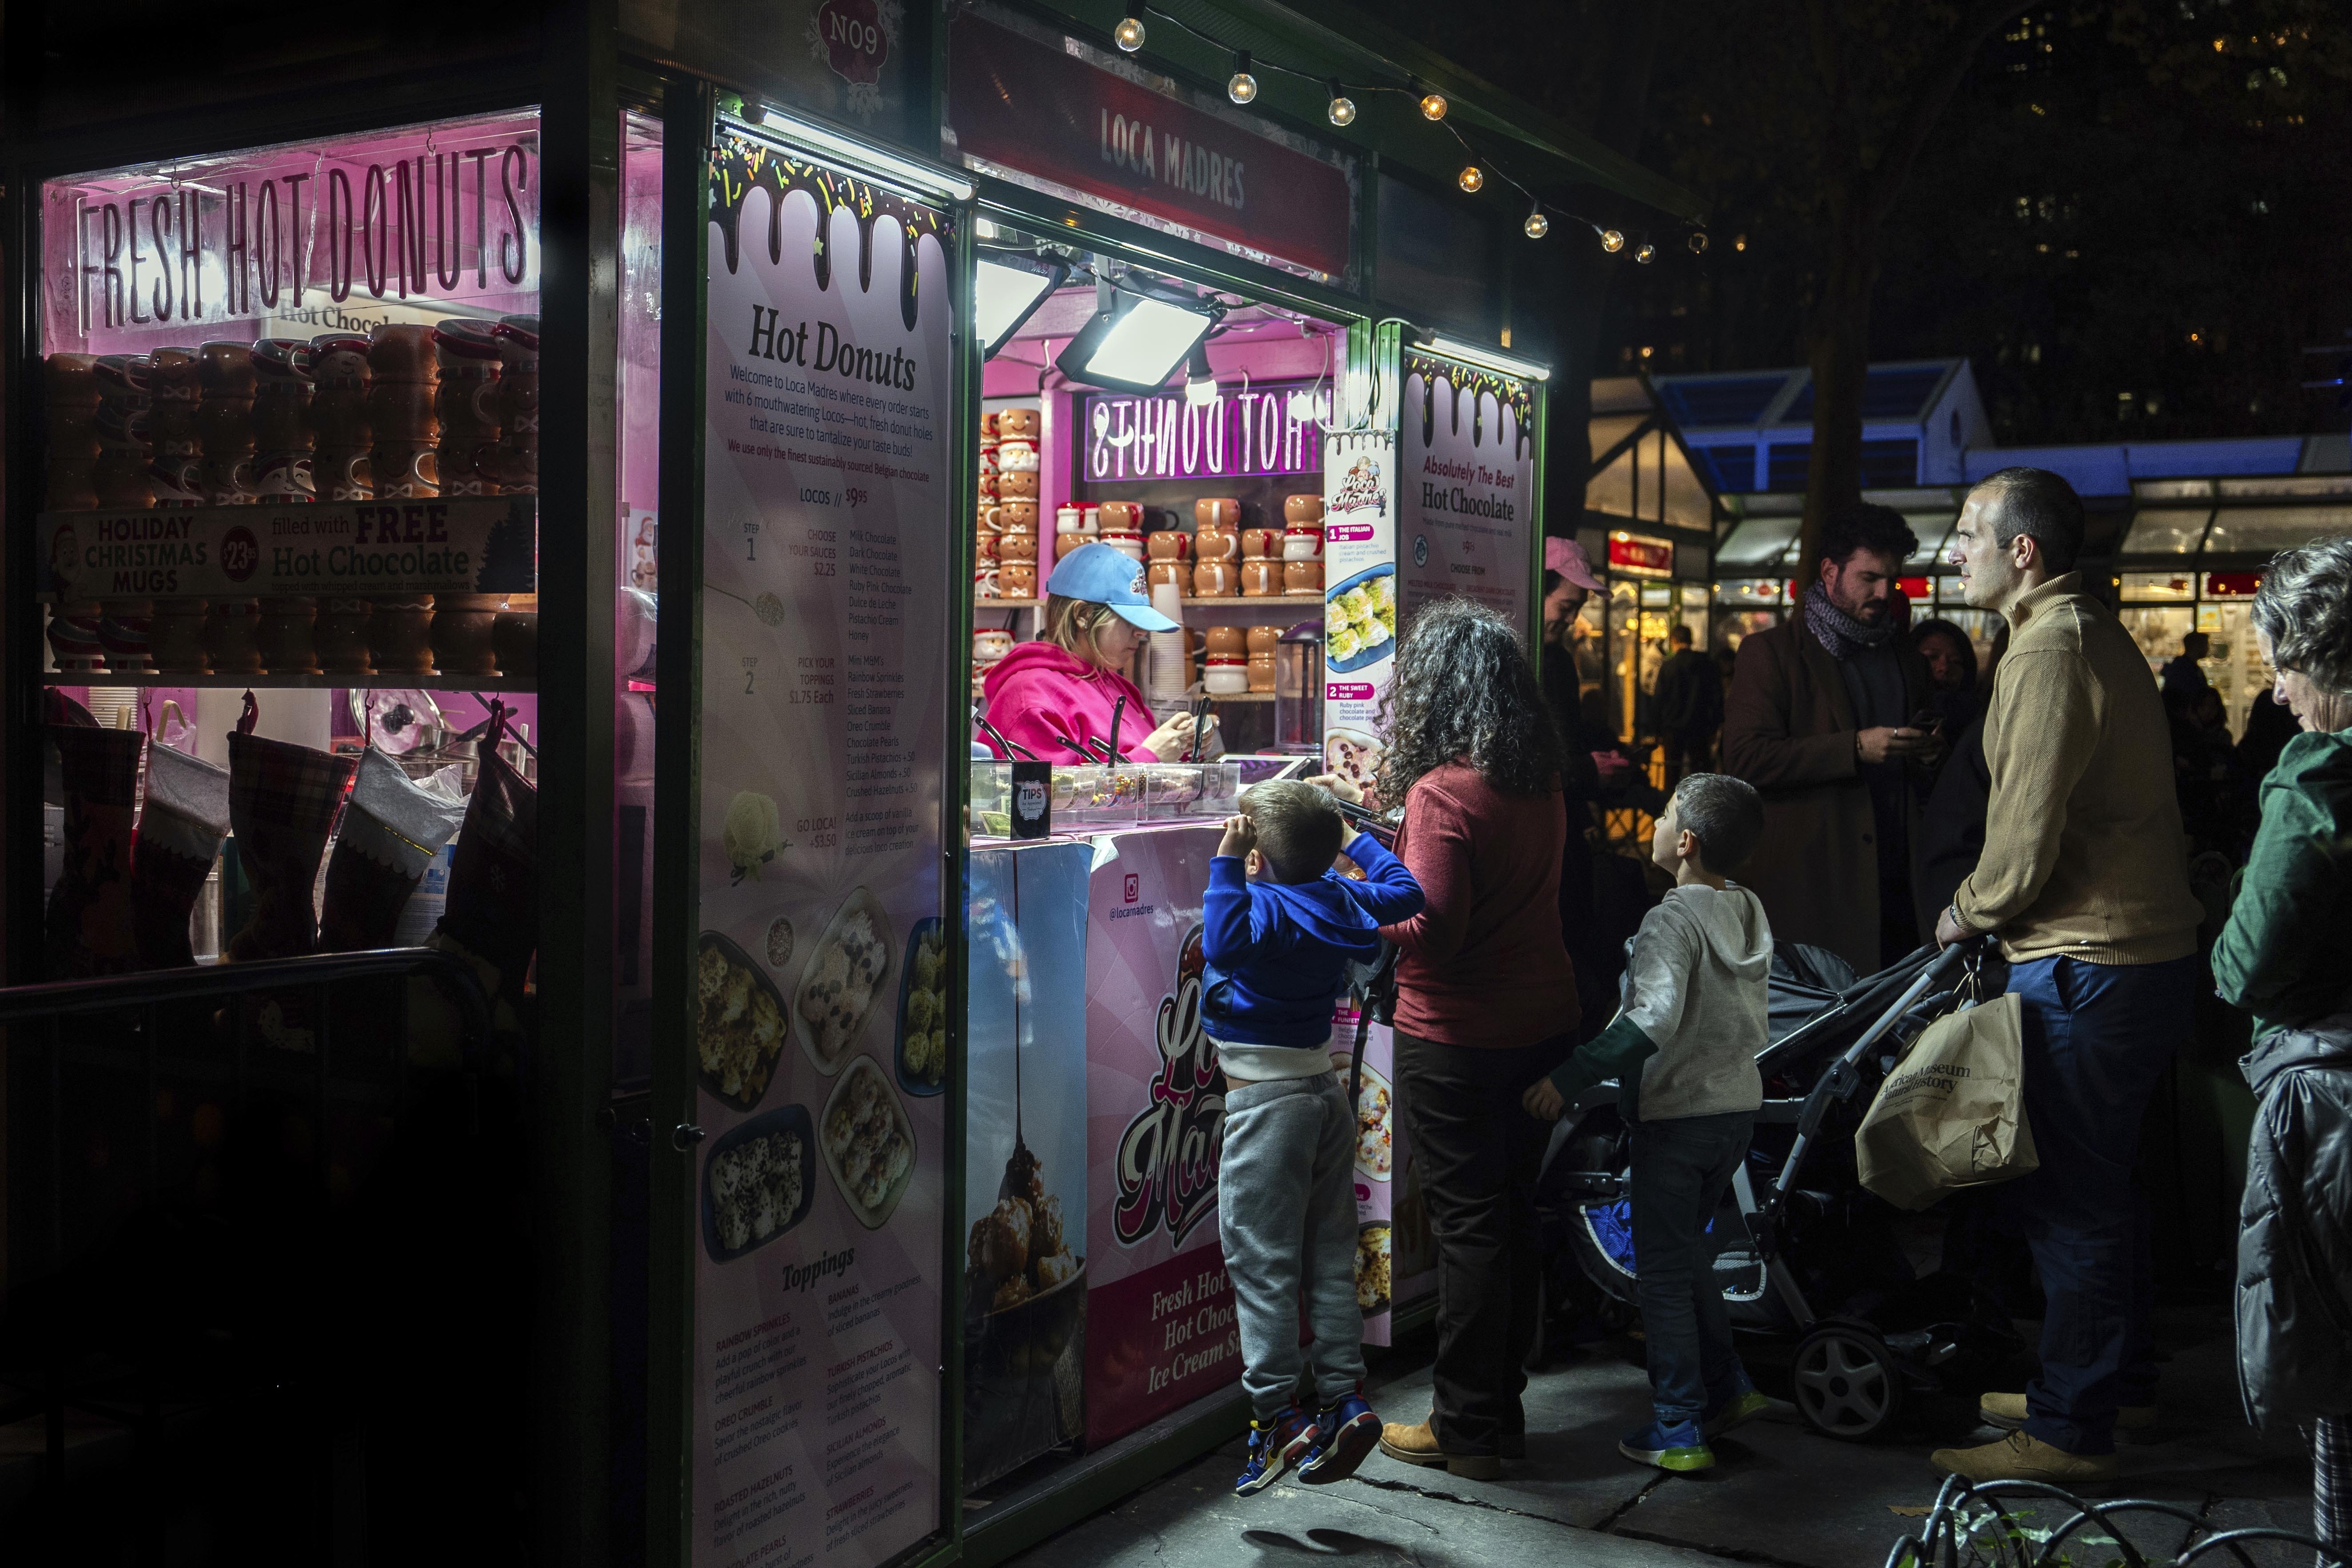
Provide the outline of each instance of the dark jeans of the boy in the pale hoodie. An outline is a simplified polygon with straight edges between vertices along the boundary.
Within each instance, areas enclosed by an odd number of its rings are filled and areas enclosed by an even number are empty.
[[[1696,1422],[1748,1389],[1708,1222],[1748,1159],[1752,1110],[1632,1124],[1632,1260],[1658,1422]]]

